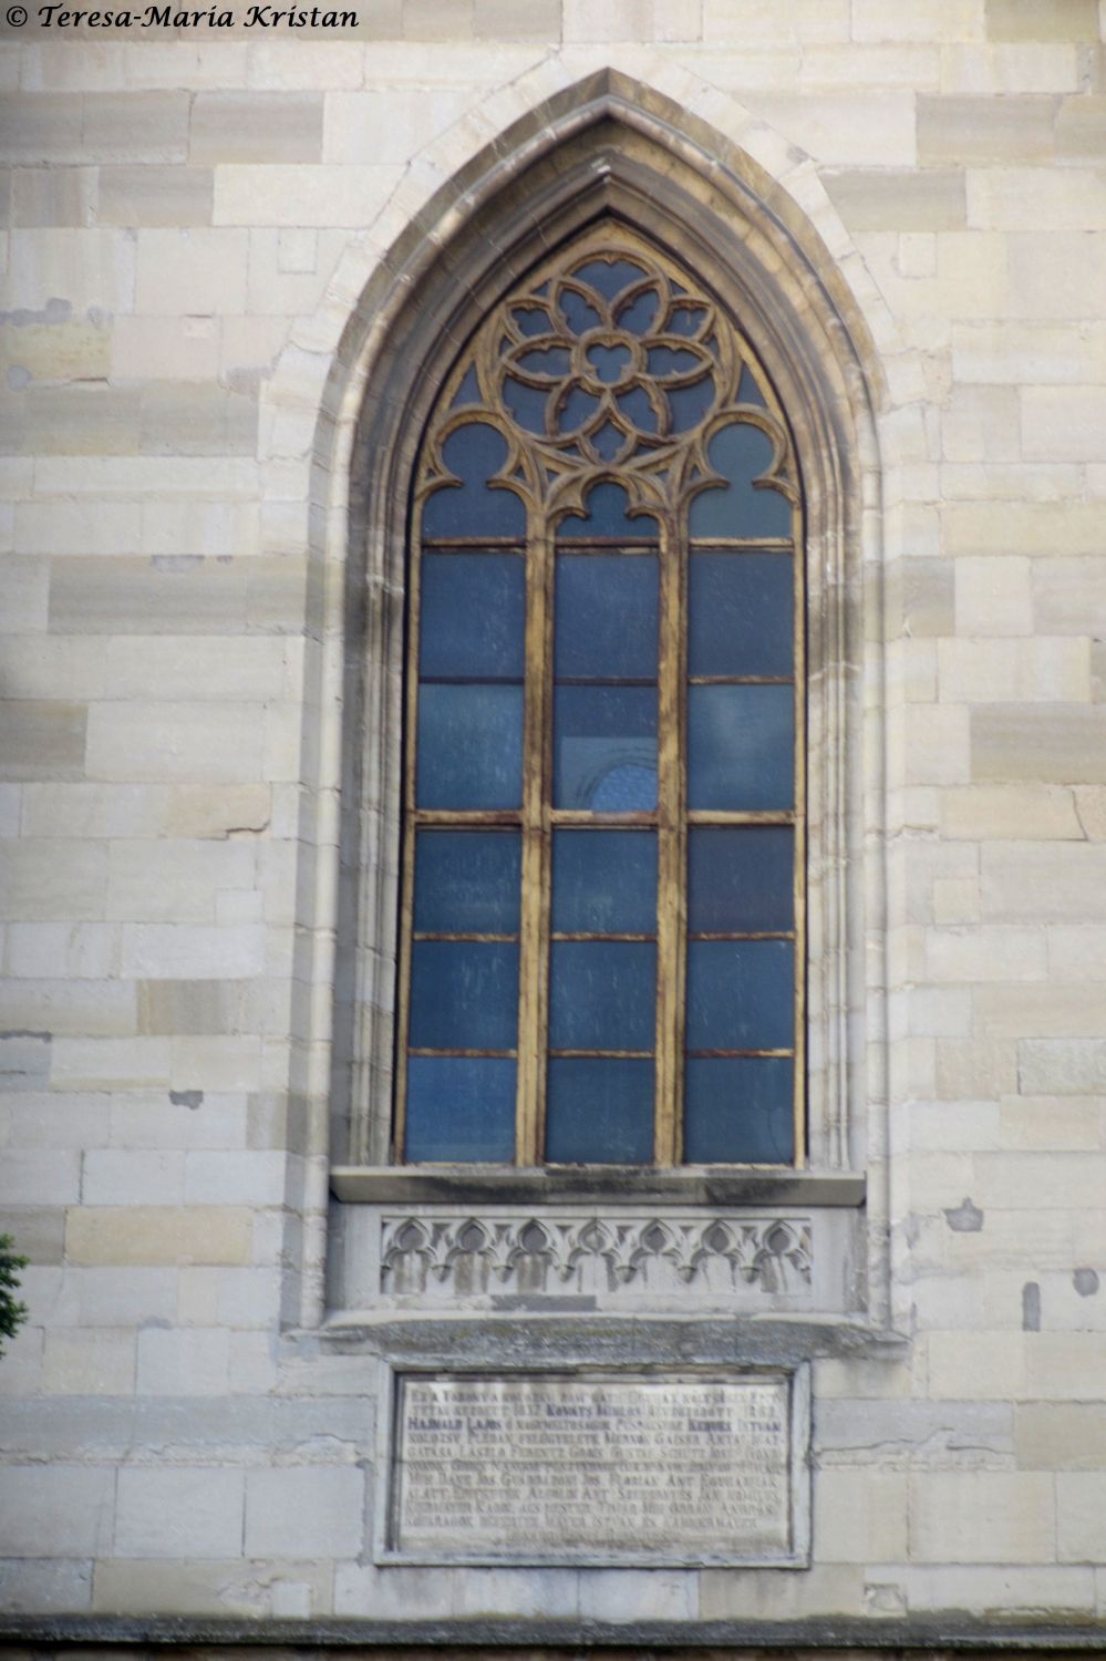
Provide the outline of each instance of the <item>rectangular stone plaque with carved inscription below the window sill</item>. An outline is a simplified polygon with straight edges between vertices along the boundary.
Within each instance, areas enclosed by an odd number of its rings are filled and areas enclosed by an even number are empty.
[[[379,1560],[800,1566],[807,1418],[804,1372],[399,1374]]]

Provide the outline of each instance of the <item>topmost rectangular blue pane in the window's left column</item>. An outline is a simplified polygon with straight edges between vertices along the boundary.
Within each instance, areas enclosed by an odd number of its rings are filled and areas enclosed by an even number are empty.
[[[418,673],[521,681],[526,570],[511,553],[423,553]]]

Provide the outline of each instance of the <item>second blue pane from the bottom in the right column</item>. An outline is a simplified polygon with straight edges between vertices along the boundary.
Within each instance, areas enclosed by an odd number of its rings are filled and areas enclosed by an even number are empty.
[[[790,940],[688,942],[688,1048],[790,1050]]]

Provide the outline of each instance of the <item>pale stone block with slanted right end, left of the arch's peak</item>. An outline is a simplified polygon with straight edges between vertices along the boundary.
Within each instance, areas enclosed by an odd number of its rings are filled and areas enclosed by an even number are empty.
[[[249,166],[216,168],[218,226],[372,224],[399,184],[399,166]],[[325,279],[324,279],[325,281]]]

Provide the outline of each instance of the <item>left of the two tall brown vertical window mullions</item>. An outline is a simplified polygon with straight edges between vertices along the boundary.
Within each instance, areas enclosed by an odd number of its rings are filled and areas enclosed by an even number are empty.
[[[550,801],[553,681],[553,528],[530,510],[526,540],[526,693],[518,953],[518,1108],[515,1163],[540,1164],[545,1144],[550,1008]]]

